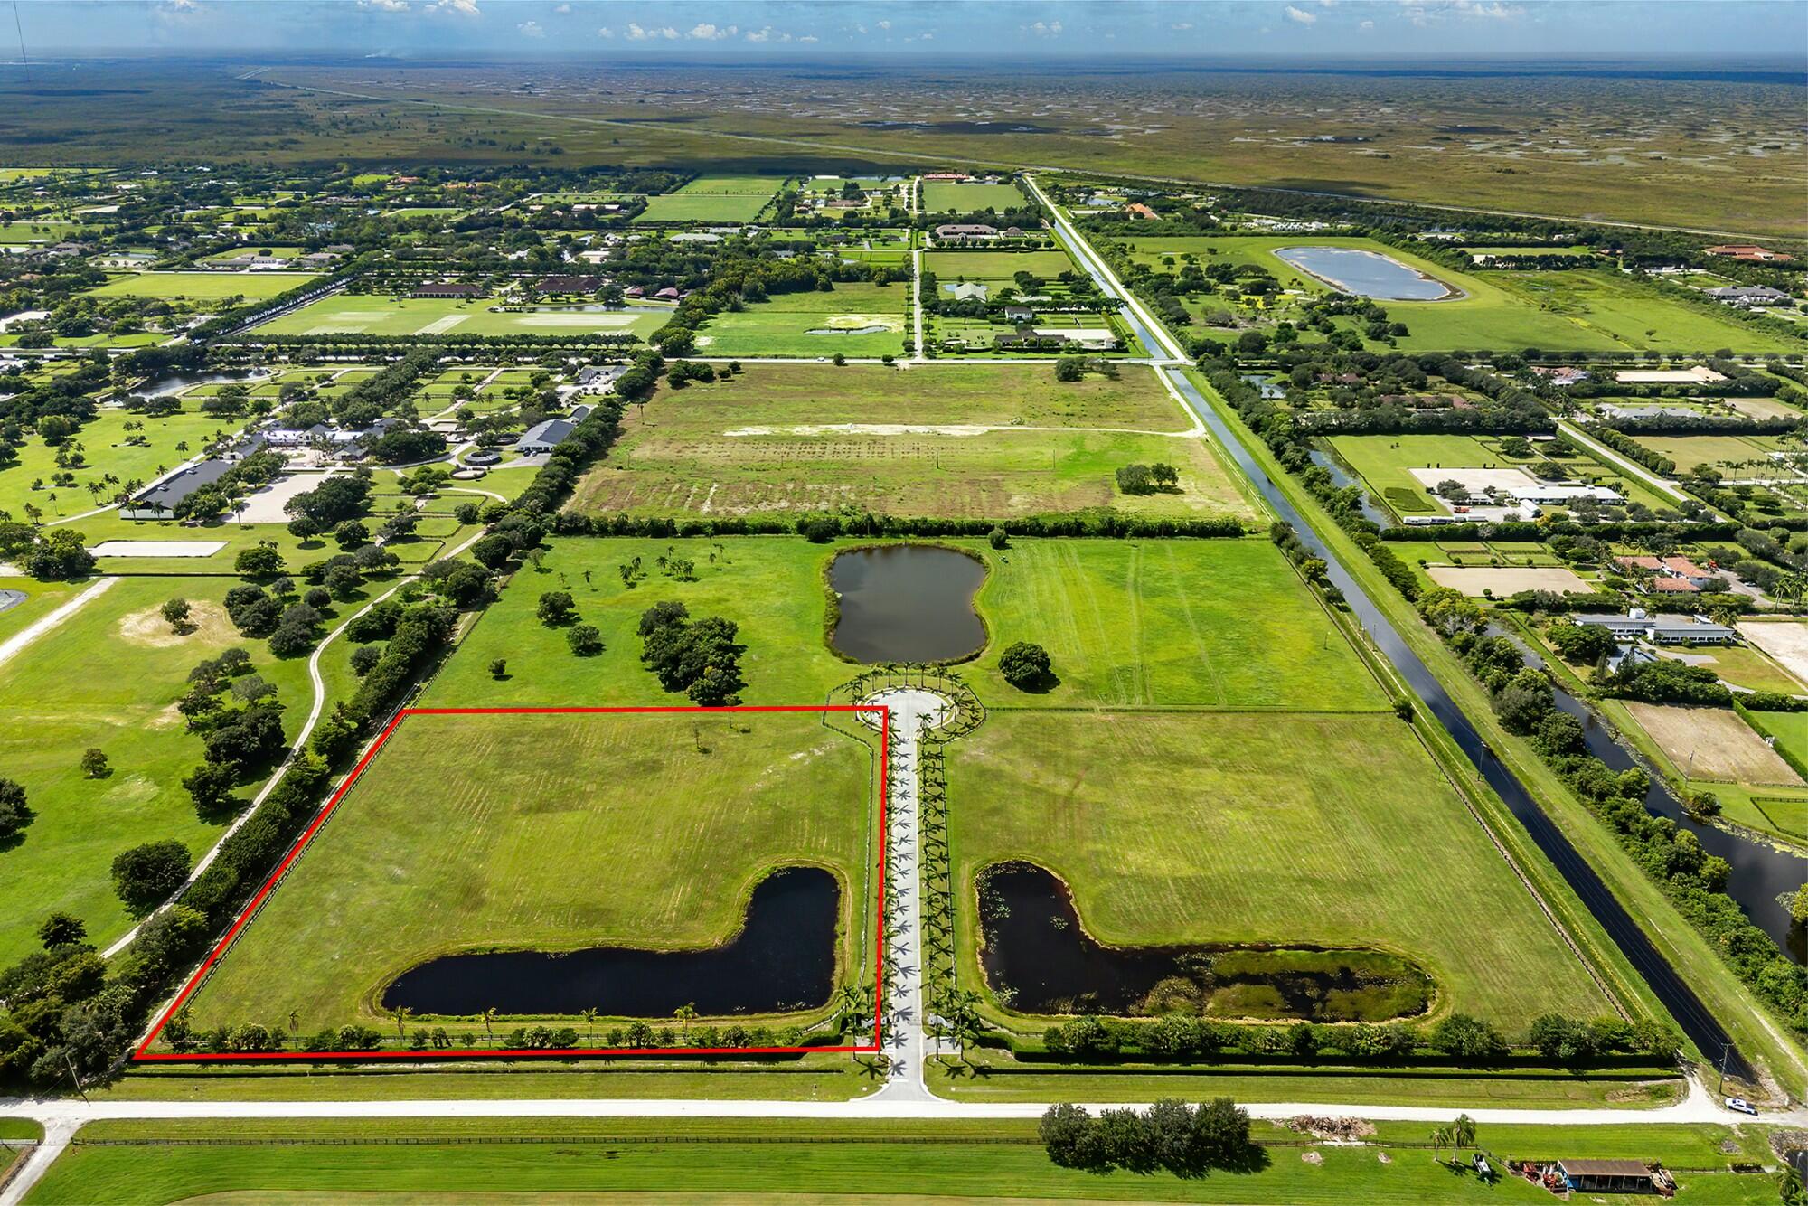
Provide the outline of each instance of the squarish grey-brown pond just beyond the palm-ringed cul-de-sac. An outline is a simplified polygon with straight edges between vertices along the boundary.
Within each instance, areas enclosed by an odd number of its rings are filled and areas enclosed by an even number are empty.
[[[841,597],[830,644],[857,662],[947,662],[985,645],[973,595],[985,566],[951,548],[886,544],[835,557]]]

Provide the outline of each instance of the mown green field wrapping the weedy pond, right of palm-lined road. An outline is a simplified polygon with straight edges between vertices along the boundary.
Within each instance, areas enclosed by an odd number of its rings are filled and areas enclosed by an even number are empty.
[[[1607,1009],[1392,716],[993,711],[949,763],[965,893],[1027,859],[1101,942],[1381,947],[1432,975],[1436,1011],[1504,1027]]]

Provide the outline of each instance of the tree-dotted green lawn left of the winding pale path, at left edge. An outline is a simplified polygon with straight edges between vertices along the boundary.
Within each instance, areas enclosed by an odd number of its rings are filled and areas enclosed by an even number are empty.
[[[36,947],[36,926],[52,909],[83,919],[99,944],[125,933],[132,922],[108,872],[121,850],[175,839],[199,855],[219,839],[221,824],[202,823],[181,787],[202,756],[175,714],[195,662],[248,647],[287,705],[286,730],[300,729],[313,702],[306,658],[282,662],[264,642],[240,638],[219,608],[231,586],[121,579],[0,665],[0,767],[36,812],[24,839],[0,850],[0,966]],[[195,606],[199,631],[170,633],[157,609],[174,595]],[[107,754],[108,777],[83,776],[89,747]]]

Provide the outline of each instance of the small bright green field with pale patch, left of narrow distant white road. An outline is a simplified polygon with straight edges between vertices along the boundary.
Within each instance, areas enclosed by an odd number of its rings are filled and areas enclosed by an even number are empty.
[[[895,356],[909,331],[906,284],[837,284],[828,293],[777,293],[721,311],[696,336],[707,356]],[[814,333],[814,334],[812,334]]]

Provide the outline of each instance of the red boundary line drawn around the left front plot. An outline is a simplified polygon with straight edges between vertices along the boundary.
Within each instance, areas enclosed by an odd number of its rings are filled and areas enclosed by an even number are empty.
[[[221,960],[226,949],[239,937],[239,931],[246,928],[251,917],[257,913],[264,899],[277,890],[277,882],[289,870],[295,859],[300,857],[307,843],[315,839],[320,826],[325,824],[333,810],[340,806],[345,794],[351,790],[353,783],[365,772],[376,752],[383,749],[391,734],[401,725],[409,716],[595,716],[595,714],[624,714],[624,712],[687,712],[687,714],[709,714],[709,712],[879,712],[879,890],[877,890],[877,917],[873,920],[873,1041],[862,1043],[859,1047],[841,1045],[841,1047],[555,1047],[555,1049],[510,1049],[510,1047],[472,1047],[465,1051],[240,1051],[240,1052],[179,1052],[179,1051],[150,1051],[150,1045],[157,1041],[163,1027],[168,1025],[175,1011],[193,994],[201,982],[206,978],[213,964]],[[251,902],[240,909],[237,920],[233,920],[231,929],[226,937],[215,944],[208,958],[195,969],[195,975],[188,978],[183,991],[175,994],[175,1000],[163,1011],[157,1023],[150,1029],[150,1034],[132,1051],[134,1063],[213,1063],[213,1061],[282,1061],[282,1063],[347,1063],[354,1060],[570,1060],[573,1056],[774,1056],[774,1054],[810,1054],[810,1052],[877,1052],[882,1049],[882,1018],[884,1018],[884,1000],[886,1000],[886,806],[888,806],[888,781],[890,781],[890,761],[891,761],[891,709],[877,703],[768,703],[768,705],[741,705],[741,707],[405,707],[396,712],[394,720],[378,734],[376,741],[365,750],[365,756],[358,759],[340,788],[333,792],[327,799],[327,806],[320,810],[313,824],[300,835],[295,846],[289,850],[287,857],[277,864],[277,870],[269,873],[264,886],[259,888]]]

